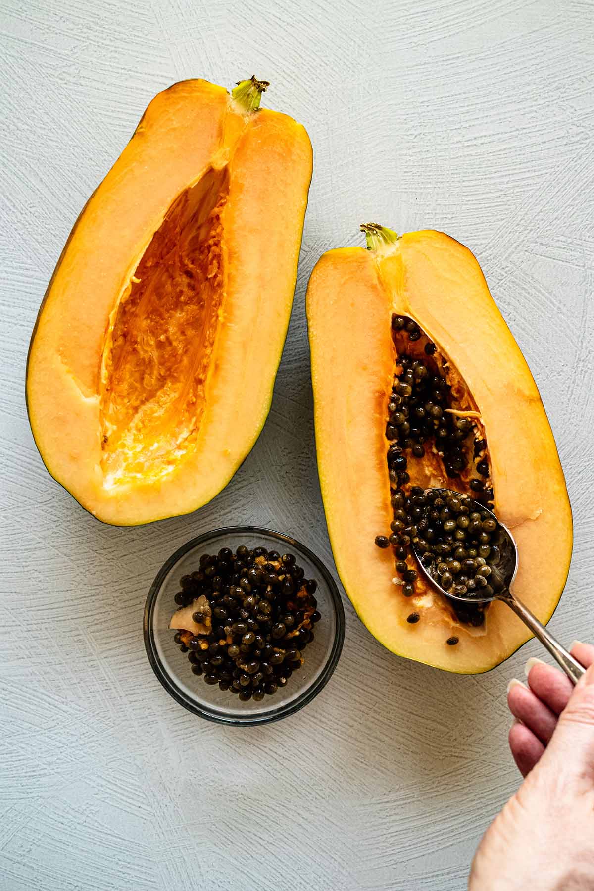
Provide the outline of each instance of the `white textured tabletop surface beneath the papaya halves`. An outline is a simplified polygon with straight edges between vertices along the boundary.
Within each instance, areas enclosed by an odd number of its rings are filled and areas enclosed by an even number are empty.
[[[587,0],[4,0],[2,891],[387,891],[465,886],[516,788],[506,683],[391,656],[347,606],[330,685],[270,727],[185,713],[142,606],[191,535],[256,522],[331,561],[313,457],[307,277],[368,219],[473,249],[549,411],[574,506],[550,627],[594,636],[592,42]],[[315,172],[289,339],[253,453],[202,511],[101,526],[45,472],[23,378],[45,284],[151,96],[255,72],[308,128]],[[84,299],[84,295],[81,295]],[[544,557],[545,555],[543,555]],[[554,559],[554,554],[547,555]]]

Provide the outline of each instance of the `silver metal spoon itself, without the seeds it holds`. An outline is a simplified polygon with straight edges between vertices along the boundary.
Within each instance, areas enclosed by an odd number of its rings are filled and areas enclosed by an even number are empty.
[[[426,489],[426,492],[431,491],[430,489]],[[456,495],[460,497],[460,492],[453,492],[452,489],[442,489],[438,488],[437,491],[440,495],[447,497],[448,495]],[[496,593],[492,593],[489,597],[475,597],[472,595],[464,595],[460,597],[459,594],[452,594],[450,591],[446,591],[445,588],[435,580],[435,578],[429,573],[427,567],[421,560],[421,554],[416,550],[415,545],[412,544],[412,549],[415,552],[415,555],[419,562],[419,568],[424,576],[426,576],[427,580],[437,588],[437,590],[443,594],[444,597],[450,598],[452,601],[460,601],[460,603],[489,603],[490,601],[503,601],[507,603],[510,609],[513,609],[517,616],[519,616],[525,625],[528,625],[532,633],[535,637],[538,637],[541,644],[549,650],[550,655],[557,659],[558,664],[563,668],[567,677],[577,683],[582,674],[585,673],[586,669],[580,665],[580,663],[574,659],[571,653],[567,652],[566,648],[561,646],[561,644],[550,634],[549,631],[545,628],[544,625],[539,622],[539,620],[533,615],[533,613],[528,609],[524,603],[518,601],[516,595],[511,590],[512,584],[514,583],[514,579],[516,578],[517,573],[517,544],[514,541],[513,536],[509,532],[509,529],[500,522],[499,519],[492,513],[488,511],[482,504],[477,502],[472,502],[476,511],[480,513],[486,513],[492,519],[497,522],[497,526],[500,529],[500,542],[498,543],[500,546],[500,561],[497,564],[497,569],[499,571],[500,580],[502,581],[502,585],[500,591]],[[490,576],[491,577],[491,576]]]

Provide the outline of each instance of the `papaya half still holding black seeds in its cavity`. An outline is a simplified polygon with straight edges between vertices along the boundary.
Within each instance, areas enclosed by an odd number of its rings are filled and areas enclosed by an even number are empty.
[[[422,510],[422,493],[452,489],[494,511],[517,541],[517,596],[547,622],[573,541],[555,440],[473,254],[440,232],[362,229],[367,249],[324,254],[307,290],[317,459],[338,574],[388,650],[484,672],[530,634],[504,603],[454,606],[422,576],[412,545],[431,549],[432,522],[448,530],[437,559],[450,584],[488,584],[488,568],[472,580],[465,568],[474,573],[492,550],[478,513],[454,522],[447,500]]]

